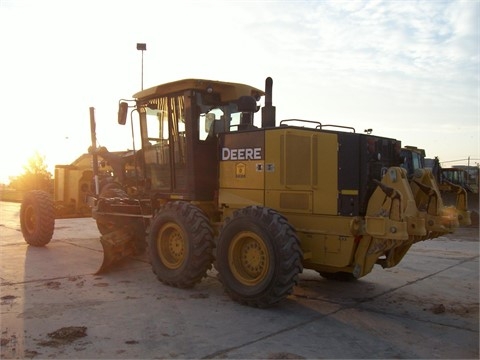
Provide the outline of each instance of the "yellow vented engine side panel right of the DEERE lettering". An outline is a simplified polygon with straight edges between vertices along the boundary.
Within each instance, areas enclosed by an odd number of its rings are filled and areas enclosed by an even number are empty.
[[[335,134],[299,129],[269,131],[265,148],[266,206],[279,211],[337,214]],[[287,205],[283,206],[284,203]],[[288,206],[295,203],[297,208]]]

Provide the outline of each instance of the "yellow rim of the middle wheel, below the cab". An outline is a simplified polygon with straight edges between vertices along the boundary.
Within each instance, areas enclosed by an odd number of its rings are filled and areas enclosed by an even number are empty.
[[[157,235],[157,253],[162,263],[169,269],[178,269],[186,256],[184,232],[175,223],[165,224]]]

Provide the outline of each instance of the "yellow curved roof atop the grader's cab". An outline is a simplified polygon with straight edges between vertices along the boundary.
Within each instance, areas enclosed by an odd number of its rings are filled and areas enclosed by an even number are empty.
[[[206,79],[183,79],[139,91],[133,97],[138,100],[148,100],[184,90],[208,91],[209,89],[211,89],[210,92],[219,93],[221,100],[225,102],[237,100],[241,96],[253,96],[258,100],[260,96],[265,95],[262,90],[245,84]]]

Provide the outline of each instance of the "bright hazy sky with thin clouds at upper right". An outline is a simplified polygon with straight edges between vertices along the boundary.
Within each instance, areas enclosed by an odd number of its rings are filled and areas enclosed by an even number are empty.
[[[480,1],[0,0],[0,183],[35,152],[132,148],[120,99],[184,78],[273,78],[277,123],[352,126],[480,163]],[[259,116],[259,115],[258,115]]]

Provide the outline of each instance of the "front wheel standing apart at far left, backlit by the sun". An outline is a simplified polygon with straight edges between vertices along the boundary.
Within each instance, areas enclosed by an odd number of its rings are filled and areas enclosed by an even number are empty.
[[[55,228],[55,208],[50,194],[42,190],[25,194],[20,206],[20,227],[29,245],[45,246],[50,242]]]

